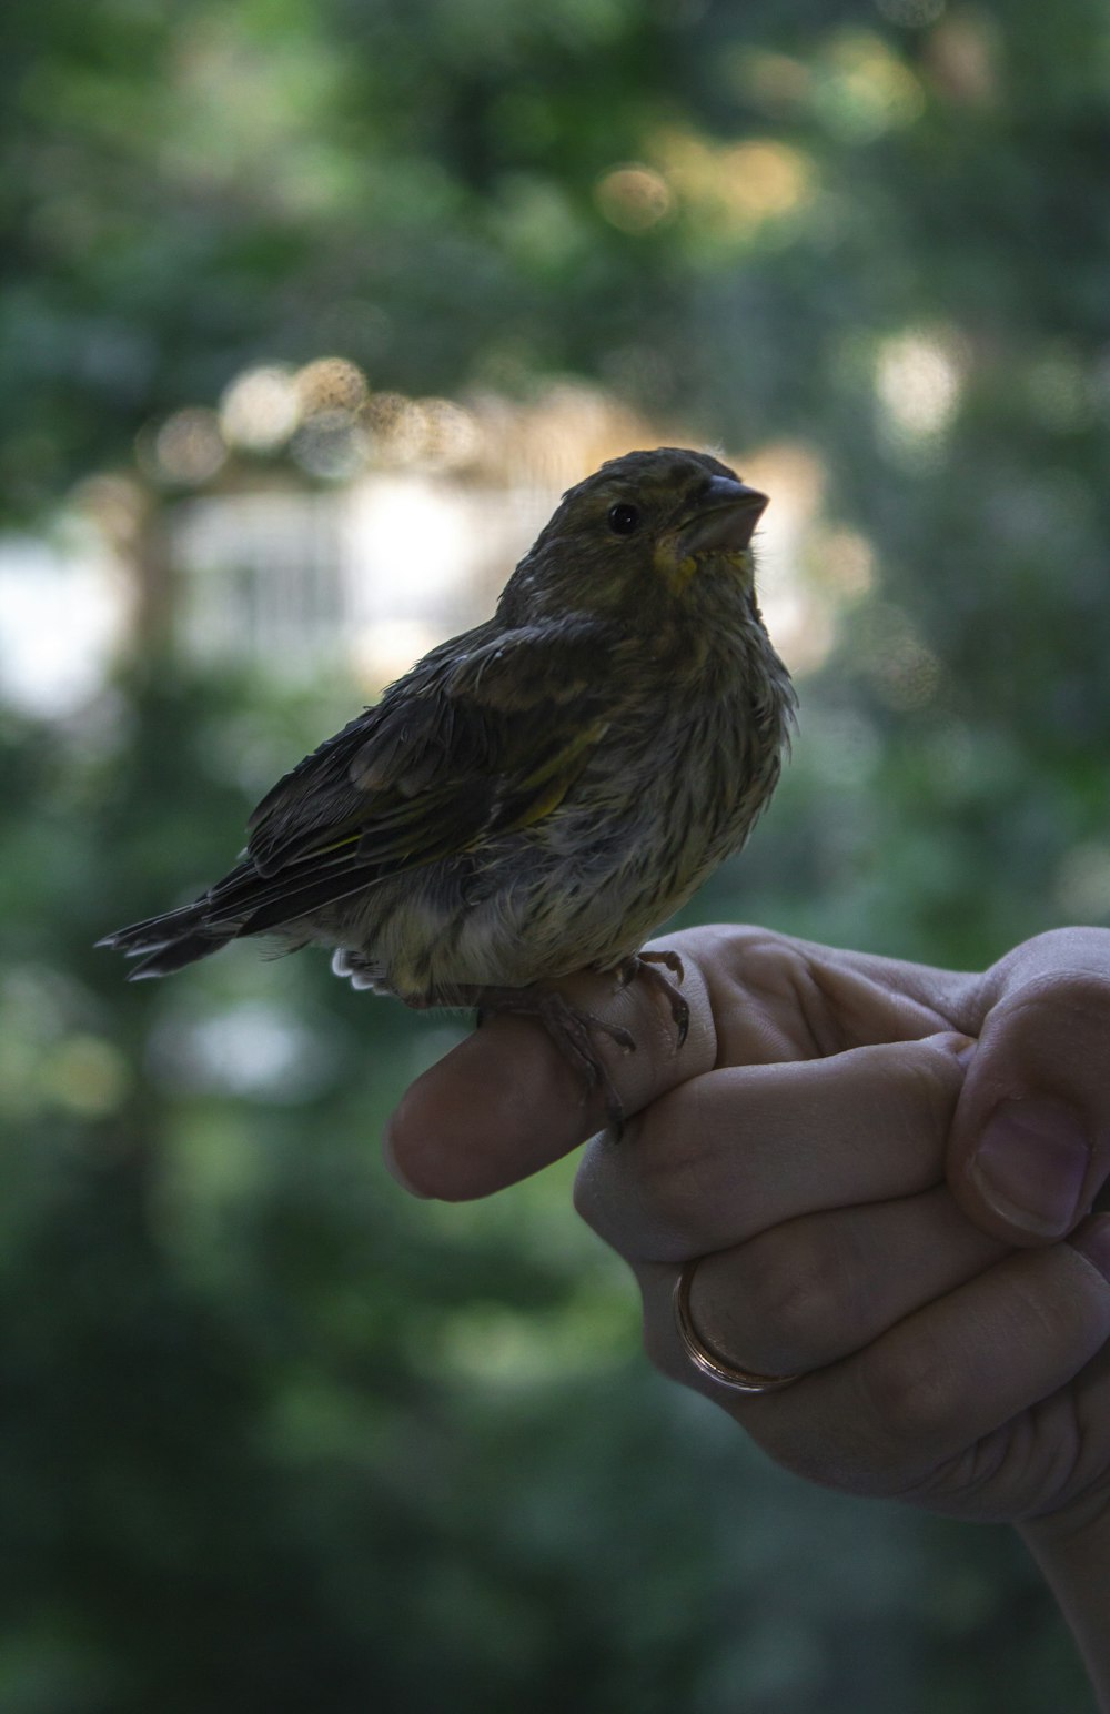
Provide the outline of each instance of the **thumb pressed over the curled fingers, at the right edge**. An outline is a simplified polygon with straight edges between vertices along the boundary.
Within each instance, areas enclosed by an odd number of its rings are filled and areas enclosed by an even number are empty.
[[[1110,1176],[1110,932],[1036,936],[987,974],[983,994],[949,1183],[992,1236],[1050,1243]]]

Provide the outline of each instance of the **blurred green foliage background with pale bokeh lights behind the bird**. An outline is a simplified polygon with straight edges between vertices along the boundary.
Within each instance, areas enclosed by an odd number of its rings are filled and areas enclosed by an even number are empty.
[[[1091,1707],[1006,1531],[654,1378],[572,1162],[408,1200],[459,1039],[104,931],[630,446],[773,495],[795,761],[689,920],[1110,920],[1101,0],[9,0],[0,1707]]]

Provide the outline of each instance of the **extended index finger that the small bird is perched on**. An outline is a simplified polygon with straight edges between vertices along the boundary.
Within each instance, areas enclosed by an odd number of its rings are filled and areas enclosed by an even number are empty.
[[[601,1030],[593,1046],[627,1118],[687,1078],[713,1070],[716,1030],[706,979],[683,944],[682,996],[690,1008],[678,1046],[666,998],[651,982],[576,975],[565,998],[630,1032],[636,1051]],[[416,1078],[385,1130],[385,1160],[418,1196],[466,1202],[516,1184],[603,1130],[600,1088],[560,1054],[534,1018],[493,1016]]]

